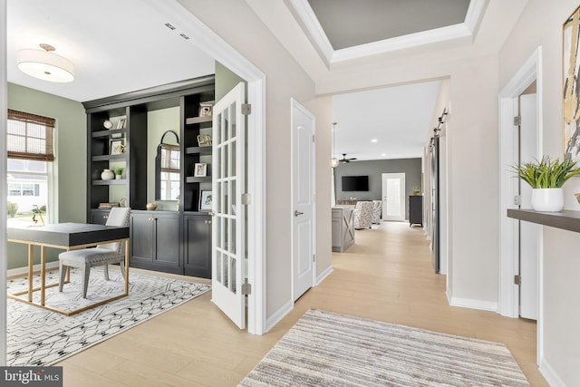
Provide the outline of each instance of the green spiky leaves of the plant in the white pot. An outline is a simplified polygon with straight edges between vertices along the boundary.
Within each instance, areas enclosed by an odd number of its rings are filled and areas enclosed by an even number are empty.
[[[560,189],[567,179],[580,173],[580,167],[576,167],[577,161],[565,159],[560,162],[550,160],[543,156],[542,160],[527,162],[513,166],[512,168],[519,179],[527,182],[533,189]]]

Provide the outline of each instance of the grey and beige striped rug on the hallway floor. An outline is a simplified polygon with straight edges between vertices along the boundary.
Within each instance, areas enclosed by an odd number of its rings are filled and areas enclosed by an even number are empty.
[[[504,344],[309,310],[240,386],[529,386]]]

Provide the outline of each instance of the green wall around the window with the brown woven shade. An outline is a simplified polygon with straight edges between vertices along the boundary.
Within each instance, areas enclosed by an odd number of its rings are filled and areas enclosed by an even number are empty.
[[[55,160],[53,195],[56,195],[58,222],[86,222],[86,114],[81,102],[38,92],[8,83],[8,109],[26,111],[56,120],[54,129]],[[3,193],[5,197],[6,193]],[[47,262],[58,259],[62,250],[48,249]],[[28,265],[27,248],[8,244],[8,269]],[[35,250],[34,263],[40,263]]]

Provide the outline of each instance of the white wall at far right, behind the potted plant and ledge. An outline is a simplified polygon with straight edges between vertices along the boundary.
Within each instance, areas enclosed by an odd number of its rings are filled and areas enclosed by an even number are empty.
[[[562,158],[562,24],[577,1],[530,0],[499,53],[499,84],[504,87],[527,58],[542,46],[544,153]],[[574,198],[580,179],[565,184],[565,208],[579,210]],[[540,370],[553,385],[580,385],[580,236],[544,227],[544,352]]]

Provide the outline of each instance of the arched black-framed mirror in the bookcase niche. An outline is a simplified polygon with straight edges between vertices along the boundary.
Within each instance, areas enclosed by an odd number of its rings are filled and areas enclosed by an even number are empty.
[[[155,156],[156,200],[179,200],[180,165],[178,133],[166,131],[161,136]]]

